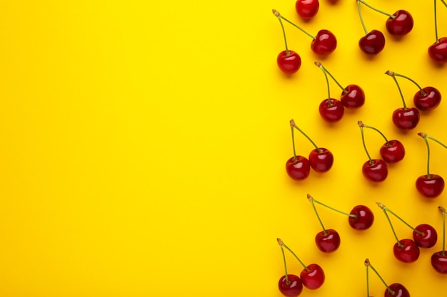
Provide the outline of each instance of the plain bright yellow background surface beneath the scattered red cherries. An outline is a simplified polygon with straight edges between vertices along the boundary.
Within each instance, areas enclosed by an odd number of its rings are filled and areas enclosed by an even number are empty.
[[[447,142],[447,104],[401,132],[391,122],[401,98],[384,75],[396,71],[447,96],[447,68],[427,54],[432,2],[368,1],[391,14],[411,12],[415,26],[401,40],[386,32],[386,16],[362,6],[366,27],[386,36],[383,52],[367,58],[353,0],[321,0],[308,22],[294,1],[1,0],[0,296],[281,296],[277,237],[326,271],[323,287],[301,296],[366,296],[366,258],[413,297],[443,296],[447,276],[433,271],[430,257],[441,250],[437,207],[447,207],[446,193],[423,199],[414,182],[426,173],[416,133]],[[282,75],[283,37],[271,9],[312,34],[333,31],[336,51],[315,56],[311,38],[285,24],[303,64]],[[440,1],[438,31],[447,35]],[[327,90],[316,60],[342,85],[366,92],[363,108],[334,125],[318,115]],[[412,106],[416,86],[399,81]],[[333,97],[339,93],[331,82]],[[288,178],[291,118],[333,152],[330,172]],[[381,184],[361,175],[367,157],[358,120],[406,146]],[[366,130],[366,142],[378,157],[381,136]],[[296,145],[299,155],[313,149],[299,134]],[[431,142],[431,172],[447,177],[446,162],[447,151]],[[340,249],[323,254],[306,194],[347,212],[365,204],[376,222],[357,232],[317,205],[326,228],[341,235]],[[413,226],[432,224],[440,240],[416,263],[401,264],[376,202]],[[401,238],[411,237],[392,220]],[[299,273],[286,255],[289,272]],[[383,295],[373,273],[370,287]]]

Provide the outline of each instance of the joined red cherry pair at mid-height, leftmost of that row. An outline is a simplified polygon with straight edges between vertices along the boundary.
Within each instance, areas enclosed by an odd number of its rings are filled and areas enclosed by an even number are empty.
[[[290,120],[290,127],[292,132],[293,157],[286,161],[286,172],[293,180],[306,179],[311,168],[318,173],[328,172],[333,165],[333,154],[330,150],[324,147],[318,147],[303,130],[301,130],[294,120]],[[303,134],[315,147],[309,153],[308,159],[302,155],[296,155],[295,148],[295,134],[294,130],[298,130]]]

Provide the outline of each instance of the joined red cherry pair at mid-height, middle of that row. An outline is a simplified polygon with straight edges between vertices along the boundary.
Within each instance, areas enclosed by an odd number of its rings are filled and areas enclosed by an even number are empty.
[[[358,121],[358,126],[360,127],[361,131],[363,148],[368,156],[368,161],[364,162],[361,168],[363,177],[370,182],[383,182],[386,177],[388,177],[387,163],[396,163],[403,160],[403,157],[405,157],[405,147],[403,147],[402,142],[398,140],[388,140],[386,136],[383,135],[383,133],[376,127],[365,125],[361,120]],[[373,159],[371,158],[371,155],[369,155],[369,152],[366,149],[363,128],[375,130],[385,139],[385,143],[379,150],[382,157],[381,159]]]

